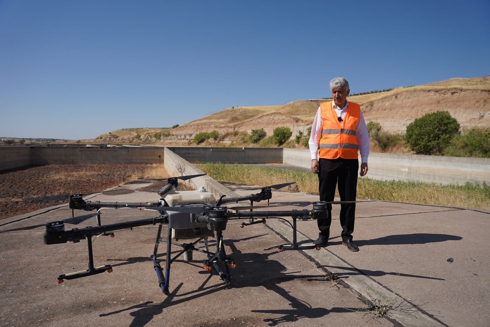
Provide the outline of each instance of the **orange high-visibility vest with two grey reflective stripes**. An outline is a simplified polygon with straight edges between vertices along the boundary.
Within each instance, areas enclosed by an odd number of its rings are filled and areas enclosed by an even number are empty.
[[[332,101],[320,104],[323,131],[319,143],[319,156],[325,159],[357,159],[359,144],[356,138],[356,123],[361,120],[361,107],[349,102],[343,118],[343,126],[337,119]]]

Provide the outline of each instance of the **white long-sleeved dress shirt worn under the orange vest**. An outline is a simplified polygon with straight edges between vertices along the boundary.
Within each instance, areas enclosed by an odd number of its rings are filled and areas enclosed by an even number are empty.
[[[337,117],[342,119],[345,117],[345,112],[349,106],[349,102],[346,101],[345,107],[340,109],[337,105],[332,102],[333,109],[337,113]],[[361,163],[368,163],[369,156],[369,134],[368,128],[366,127],[366,121],[364,120],[363,112],[360,111],[361,120],[356,123],[356,138],[357,144],[359,145],[359,152],[361,153]],[[343,126],[343,120],[340,123]],[[323,131],[323,119],[321,119],[321,109],[318,108],[315,119],[313,120],[313,125],[311,128],[311,135],[309,140],[311,160],[318,159],[318,146],[320,143],[321,132]]]

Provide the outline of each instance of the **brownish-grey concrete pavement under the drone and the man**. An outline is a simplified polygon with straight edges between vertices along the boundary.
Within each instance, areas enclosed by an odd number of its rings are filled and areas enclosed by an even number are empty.
[[[236,192],[250,193],[239,188]],[[91,200],[140,202],[154,201],[155,196],[137,191],[100,194]],[[315,201],[318,196],[274,191],[271,201],[288,200]],[[298,208],[284,207],[288,209]],[[359,203],[354,241],[360,251],[351,252],[341,245],[339,210],[334,206],[329,245],[320,251],[277,252],[276,246],[292,236],[291,227],[280,220],[268,219],[267,225],[245,228],[231,220],[224,237],[226,250],[238,263],[232,271],[232,287],[224,286],[214,270],[204,272],[199,263],[202,258],[195,254],[195,262],[177,259],[172,264],[170,297],[158,288],[149,259],[155,226],[116,232],[114,239],[98,238],[94,244],[96,265],[110,263],[114,272],[61,285],[55,282],[58,274],[86,267],[84,242],[44,245],[42,228],[1,234],[4,290],[0,324],[489,326],[488,214],[384,201]],[[70,216],[71,210],[60,207],[17,222],[10,218],[14,222],[1,228]],[[102,221],[153,216],[148,211],[106,210]],[[315,240],[318,235],[315,221],[298,222],[298,231],[300,242]],[[447,262],[450,257],[452,263]],[[322,268],[342,282],[332,286]],[[359,294],[382,298],[393,292],[400,297],[396,299],[403,299],[407,312],[389,312],[390,320],[377,321],[357,312],[367,307],[357,299]]]

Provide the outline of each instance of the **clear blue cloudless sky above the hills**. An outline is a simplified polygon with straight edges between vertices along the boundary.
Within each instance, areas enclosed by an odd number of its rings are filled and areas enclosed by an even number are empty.
[[[0,136],[93,138],[232,106],[490,74],[490,1],[0,0]]]

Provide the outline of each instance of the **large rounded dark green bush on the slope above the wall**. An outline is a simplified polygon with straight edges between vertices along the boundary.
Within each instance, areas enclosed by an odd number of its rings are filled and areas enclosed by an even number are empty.
[[[420,154],[440,154],[459,133],[460,125],[448,111],[436,111],[417,118],[407,126],[405,141]]]

